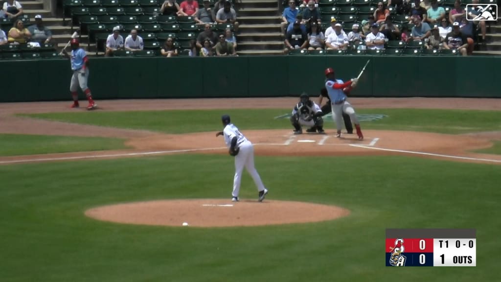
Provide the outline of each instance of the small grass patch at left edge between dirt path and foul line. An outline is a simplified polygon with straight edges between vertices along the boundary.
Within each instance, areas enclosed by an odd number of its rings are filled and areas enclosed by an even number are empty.
[[[124,148],[124,140],[119,138],[0,134],[2,157]]]

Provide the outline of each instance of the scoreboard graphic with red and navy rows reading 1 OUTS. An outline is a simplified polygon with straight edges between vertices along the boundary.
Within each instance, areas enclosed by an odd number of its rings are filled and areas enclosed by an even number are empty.
[[[476,266],[475,229],[386,229],[386,266]]]

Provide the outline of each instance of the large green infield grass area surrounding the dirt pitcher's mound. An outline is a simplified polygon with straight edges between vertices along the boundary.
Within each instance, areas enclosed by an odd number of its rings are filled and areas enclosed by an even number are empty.
[[[349,217],[204,229],[121,225],[83,214],[118,202],[229,199],[227,156],[0,166],[2,281],[498,279],[499,166],[408,157],[311,160],[258,157],[268,199],[339,205],[352,211]],[[257,198],[246,173],[241,198]],[[477,267],[385,267],[385,228],[476,228]]]

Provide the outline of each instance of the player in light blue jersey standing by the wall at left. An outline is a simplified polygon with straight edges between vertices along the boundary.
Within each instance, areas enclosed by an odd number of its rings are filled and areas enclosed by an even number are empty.
[[[82,92],[87,96],[89,100],[88,110],[95,109],[97,104],[92,99],[91,90],[87,87],[87,80],[89,79],[89,58],[87,58],[87,53],[84,49],[80,48],[78,39],[74,38],[71,40],[71,55],[63,49],[63,54],[70,58],[71,69],[73,70],[73,75],[70,82],[70,91],[73,96],[72,108],[78,108],[80,104],[78,103],[78,87],[82,89]]]

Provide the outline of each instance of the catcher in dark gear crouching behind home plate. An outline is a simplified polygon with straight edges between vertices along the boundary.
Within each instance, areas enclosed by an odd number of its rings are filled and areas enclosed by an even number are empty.
[[[324,113],[320,107],[314,101],[310,100],[308,94],[301,94],[300,102],[292,110],[291,123],[294,126],[294,134],[303,133],[301,125],[312,126],[306,130],[307,132],[318,131],[320,134],[325,134],[323,115]]]

